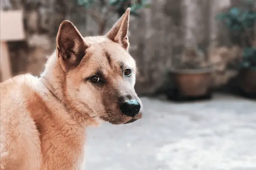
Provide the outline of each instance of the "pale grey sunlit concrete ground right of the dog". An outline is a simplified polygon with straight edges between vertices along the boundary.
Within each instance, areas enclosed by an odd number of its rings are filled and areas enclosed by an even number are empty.
[[[134,123],[88,129],[86,170],[256,170],[256,101],[142,103]]]

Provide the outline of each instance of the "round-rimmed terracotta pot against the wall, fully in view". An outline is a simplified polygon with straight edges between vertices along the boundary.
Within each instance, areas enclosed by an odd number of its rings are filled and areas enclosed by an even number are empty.
[[[172,81],[182,96],[204,96],[212,84],[212,69],[172,70]]]

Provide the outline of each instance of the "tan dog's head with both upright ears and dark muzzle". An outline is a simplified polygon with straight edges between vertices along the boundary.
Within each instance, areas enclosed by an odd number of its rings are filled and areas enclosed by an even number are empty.
[[[136,64],[128,53],[130,8],[104,36],[83,38],[70,21],[57,35],[58,61],[65,74],[68,104],[92,119],[112,124],[131,123],[142,117],[135,90]]]

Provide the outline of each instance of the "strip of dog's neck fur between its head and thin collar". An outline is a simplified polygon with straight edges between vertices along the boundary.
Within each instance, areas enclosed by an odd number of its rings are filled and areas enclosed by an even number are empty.
[[[65,74],[62,70],[60,63],[58,62],[56,52],[54,52],[46,63],[46,68],[41,74],[40,81],[48,88],[52,95],[59,100],[63,106],[70,113],[72,119],[80,125],[98,125],[96,121],[91,119],[87,113],[78,113],[78,111],[70,107],[65,101],[63,92],[63,82],[65,82]]]

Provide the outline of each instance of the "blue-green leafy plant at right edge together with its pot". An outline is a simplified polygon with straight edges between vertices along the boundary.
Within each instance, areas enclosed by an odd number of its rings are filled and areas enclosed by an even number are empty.
[[[251,2],[246,2],[250,4]],[[227,12],[217,16],[230,31],[232,43],[243,49],[243,54],[238,64],[238,88],[246,96],[256,96],[256,10],[253,5],[247,10],[233,7]]]

